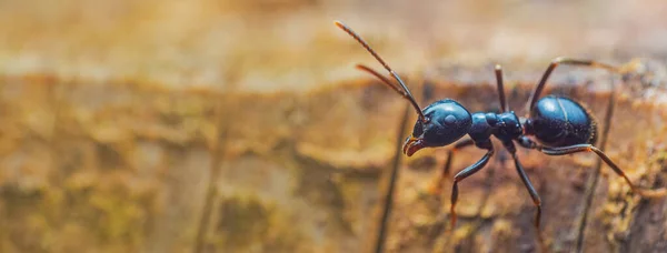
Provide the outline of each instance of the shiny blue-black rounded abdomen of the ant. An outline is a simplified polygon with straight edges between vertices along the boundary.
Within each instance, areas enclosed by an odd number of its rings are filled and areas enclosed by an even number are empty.
[[[526,134],[534,134],[548,146],[595,144],[597,125],[593,114],[575,100],[547,95],[537,101],[525,123]]]

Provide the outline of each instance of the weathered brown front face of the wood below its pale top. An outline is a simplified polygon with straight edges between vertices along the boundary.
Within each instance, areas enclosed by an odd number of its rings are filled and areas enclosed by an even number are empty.
[[[447,93],[472,111],[496,98],[489,84],[429,83],[434,99]],[[225,95],[138,87],[3,79],[4,250],[191,251],[209,181],[207,251],[371,246],[406,107],[390,90],[358,82],[305,95]],[[520,108],[526,90],[509,92],[511,108]],[[606,107],[605,95],[561,92],[588,102],[596,114]],[[663,185],[667,112],[649,102],[618,101],[608,153],[637,183]],[[534,208],[502,152],[461,183],[455,235],[438,230],[449,189],[441,204],[419,192],[437,175],[445,150],[404,158],[387,250],[535,249]],[[454,168],[480,155],[466,150]],[[544,200],[546,237],[554,250],[569,251],[595,158],[519,155]],[[586,252],[665,250],[667,202],[628,191],[603,168]]]

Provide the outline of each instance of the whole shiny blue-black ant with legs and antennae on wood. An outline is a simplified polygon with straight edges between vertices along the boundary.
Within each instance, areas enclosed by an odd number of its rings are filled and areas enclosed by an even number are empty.
[[[458,183],[464,179],[480,171],[494,155],[494,145],[491,144],[491,135],[500,140],[505,149],[509,151],[514,159],[516,170],[524,182],[532,203],[537,208],[535,215],[535,227],[537,233],[540,232],[540,216],[541,216],[541,201],[540,198],[532,186],[530,179],[524,171],[524,166],[519,162],[517,156],[517,149],[515,142],[522,148],[532,149],[540,151],[547,155],[565,155],[577,152],[594,152],[596,153],[607,165],[609,165],[614,172],[623,176],[628,183],[631,191],[640,194],[645,198],[657,198],[667,194],[666,189],[648,190],[637,188],[628,176],[614,163],[603,151],[596,148],[594,144],[598,138],[597,124],[590,112],[581,105],[579,102],[557,95],[547,95],[540,99],[540,93],[545,88],[547,79],[559,64],[569,65],[585,65],[591,68],[598,68],[608,70],[610,72],[623,72],[619,68],[615,68],[605,63],[577,60],[569,58],[557,58],[547,68],[537,88],[530,95],[530,102],[527,104],[529,115],[527,118],[518,118],[514,111],[509,111],[505,100],[505,91],[502,85],[502,69],[500,65],[496,65],[495,73],[498,85],[498,97],[500,99],[500,113],[495,112],[475,112],[470,113],[464,105],[452,99],[444,99],[431,103],[424,110],[419,108],[417,101],[410,93],[410,90],[406,87],[404,81],[398,74],[389,68],[389,65],[359,37],[352,29],[347,27],[340,21],[335,21],[336,26],[352,38],[355,38],[370,54],[379,61],[382,67],[399,85],[394,84],[385,75],[378,73],[369,67],[357,64],[357,69],[366,71],[389,88],[398,92],[401,97],[407,99],[419,115],[419,119],[415,123],[412,134],[409,136],[404,144],[404,153],[408,156],[415,154],[415,152],[424,148],[437,148],[449,145],[464,135],[468,134],[470,139],[459,141],[454,144],[454,149],[449,152],[449,158],[446,162],[442,174],[437,181],[436,191],[440,191],[441,184],[445,176],[448,174],[449,166],[451,164],[451,156],[456,150],[465,146],[476,145],[479,149],[486,150],[487,153],[475,164],[464,169],[454,176],[454,185],[451,189],[451,206],[450,206],[450,222],[451,227],[456,225],[456,203],[458,200]],[[536,141],[532,141],[528,136],[532,135]],[[540,236],[541,241],[541,236]]]

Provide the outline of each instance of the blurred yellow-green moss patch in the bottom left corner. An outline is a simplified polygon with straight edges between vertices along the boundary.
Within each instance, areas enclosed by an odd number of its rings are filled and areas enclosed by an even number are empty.
[[[122,184],[2,191],[1,233],[20,252],[139,251],[153,213],[153,194]]]

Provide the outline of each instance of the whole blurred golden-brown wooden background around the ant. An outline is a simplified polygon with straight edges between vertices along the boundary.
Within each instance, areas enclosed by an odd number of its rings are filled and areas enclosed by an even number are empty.
[[[548,90],[600,128],[611,101],[608,154],[638,184],[667,179],[665,1],[1,0],[0,252],[536,252],[535,208],[502,152],[461,183],[448,234],[450,182],[424,195],[447,149],[397,153],[416,117],[354,69],[380,67],[332,20],[422,107],[496,110],[500,63],[525,113],[556,57],[640,59],[626,82],[564,67]],[[459,152],[454,170],[481,155]],[[549,250],[667,251],[665,200],[590,154],[519,155]]]

